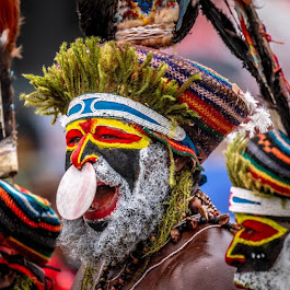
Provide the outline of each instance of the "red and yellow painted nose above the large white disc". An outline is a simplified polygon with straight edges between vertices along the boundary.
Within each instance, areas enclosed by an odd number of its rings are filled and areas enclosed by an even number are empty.
[[[70,156],[71,163],[78,170],[81,170],[85,162],[96,162],[98,159],[97,147],[90,139],[90,134],[84,135]]]

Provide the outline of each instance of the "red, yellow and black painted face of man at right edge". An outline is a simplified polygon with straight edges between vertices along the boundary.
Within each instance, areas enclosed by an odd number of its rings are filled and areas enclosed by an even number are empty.
[[[277,260],[282,260],[280,255],[286,247],[289,223],[278,218],[244,213],[236,213],[235,218],[241,230],[228,248],[225,262],[237,268],[234,279],[236,287],[254,290],[283,289],[267,287],[272,276],[278,275]],[[289,271],[289,266],[285,270]]]

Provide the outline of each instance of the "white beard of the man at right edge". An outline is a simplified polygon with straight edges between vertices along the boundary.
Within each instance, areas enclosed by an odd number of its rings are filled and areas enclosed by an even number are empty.
[[[234,281],[252,290],[289,290],[290,289],[290,234],[283,247],[268,271],[236,272]]]

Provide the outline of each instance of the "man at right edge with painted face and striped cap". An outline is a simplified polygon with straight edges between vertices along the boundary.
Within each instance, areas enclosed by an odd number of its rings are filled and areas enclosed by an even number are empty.
[[[225,256],[237,288],[290,289],[290,140],[278,130],[237,138],[227,152],[230,210],[241,230]]]

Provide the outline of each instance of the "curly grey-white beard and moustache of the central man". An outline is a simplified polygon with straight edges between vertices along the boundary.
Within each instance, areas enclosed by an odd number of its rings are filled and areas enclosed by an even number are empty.
[[[140,241],[149,237],[161,221],[167,198],[167,150],[155,143],[140,150],[140,172],[132,192],[125,178],[101,156],[94,163],[97,182],[119,186],[116,210],[107,218],[102,232],[94,231],[82,218],[63,220],[59,244],[73,259],[94,263],[120,262]]]

